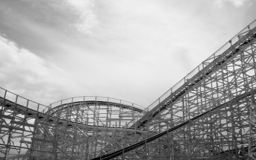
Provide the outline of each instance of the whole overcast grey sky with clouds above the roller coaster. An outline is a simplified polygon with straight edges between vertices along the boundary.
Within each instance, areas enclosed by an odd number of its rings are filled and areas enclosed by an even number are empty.
[[[0,86],[149,106],[256,19],[255,0],[1,0]]]

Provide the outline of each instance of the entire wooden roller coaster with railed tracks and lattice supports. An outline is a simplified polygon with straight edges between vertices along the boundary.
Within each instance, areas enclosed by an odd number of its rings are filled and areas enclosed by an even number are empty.
[[[0,88],[0,159],[256,159],[256,20],[143,108]]]

